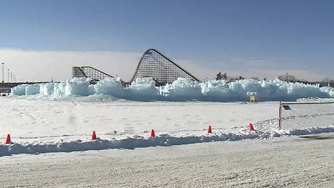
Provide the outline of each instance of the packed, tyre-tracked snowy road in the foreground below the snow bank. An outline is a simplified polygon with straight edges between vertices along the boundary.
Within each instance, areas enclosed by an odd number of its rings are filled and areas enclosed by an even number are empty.
[[[333,187],[333,136],[0,157],[0,185]]]

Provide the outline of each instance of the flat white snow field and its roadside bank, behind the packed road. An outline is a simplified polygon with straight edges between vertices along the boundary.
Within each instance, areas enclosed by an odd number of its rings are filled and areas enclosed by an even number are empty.
[[[0,145],[0,156],[334,132],[334,115],[328,113],[333,105],[297,111],[305,116],[287,114],[281,130],[278,102],[75,102],[3,97],[0,105],[0,139],[11,134],[13,141]],[[249,123],[255,132],[249,132]],[[207,134],[209,125],[213,134]],[[157,135],[154,139],[149,138],[152,129]],[[100,137],[97,141],[90,141],[93,130]]]

